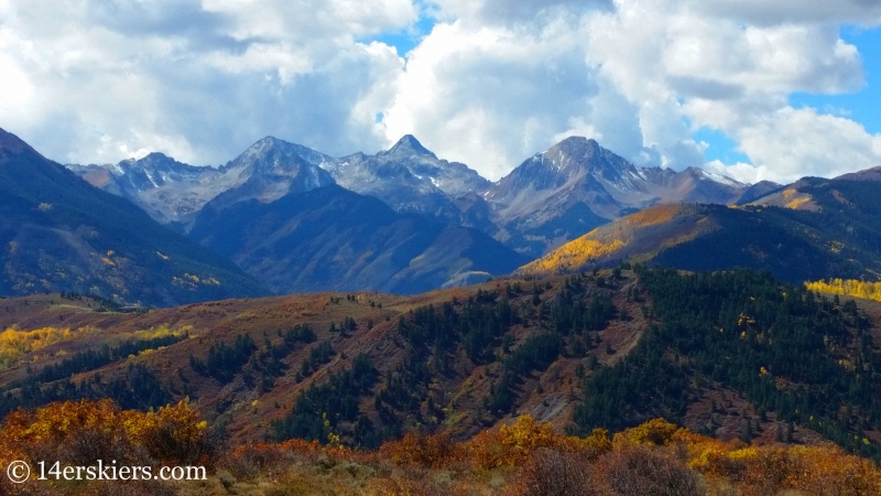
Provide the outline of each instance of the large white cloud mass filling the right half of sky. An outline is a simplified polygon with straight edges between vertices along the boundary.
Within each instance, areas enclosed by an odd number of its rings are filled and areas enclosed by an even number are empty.
[[[694,133],[709,128],[732,138],[752,162],[729,164],[729,174],[797,179],[828,155],[811,147],[787,160],[777,155],[811,119],[784,118],[792,110],[787,97],[863,87],[860,54],[840,39],[839,23],[869,25],[879,15],[875,2],[860,0],[840,8],[823,1],[523,2],[508,14],[498,14],[493,0],[437,3],[455,21],[439,24],[410,54],[385,115],[387,138],[415,132],[490,177],[569,133],[596,138],[642,165],[701,165],[707,143]],[[541,77],[548,73],[542,67],[578,77]],[[830,117],[814,112],[819,121]],[[842,126],[827,126],[828,139],[845,128],[858,134],[859,125],[839,119]],[[862,141],[872,139],[862,130]],[[852,155],[857,162],[841,166],[881,162],[871,150],[862,147]]]

